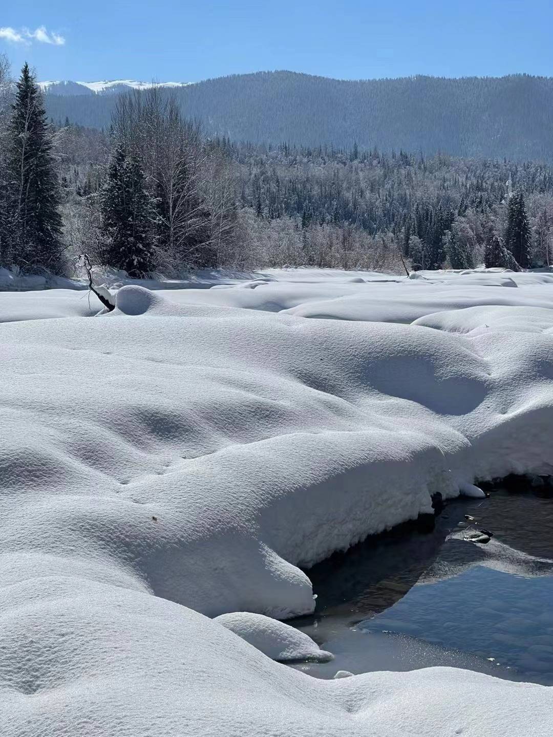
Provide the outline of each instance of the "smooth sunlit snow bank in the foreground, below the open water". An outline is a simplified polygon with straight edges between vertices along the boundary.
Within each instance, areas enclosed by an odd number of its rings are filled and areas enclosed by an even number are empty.
[[[321,681],[187,607],[68,575],[0,590],[4,737],[547,737],[553,691],[452,668]]]

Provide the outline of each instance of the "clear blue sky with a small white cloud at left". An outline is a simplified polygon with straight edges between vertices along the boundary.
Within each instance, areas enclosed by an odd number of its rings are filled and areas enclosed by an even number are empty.
[[[27,0],[0,52],[41,80],[553,75],[553,0]]]

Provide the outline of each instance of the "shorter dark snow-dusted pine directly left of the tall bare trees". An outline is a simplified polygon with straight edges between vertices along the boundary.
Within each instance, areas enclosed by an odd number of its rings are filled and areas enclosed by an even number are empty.
[[[107,237],[105,262],[141,279],[153,271],[154,203],[147,192],[138,156],[118,144],[101,196],[102,229]]]

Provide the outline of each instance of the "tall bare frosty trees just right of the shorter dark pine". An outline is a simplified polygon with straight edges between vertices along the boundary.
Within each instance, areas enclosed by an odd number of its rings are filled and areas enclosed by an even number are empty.
[[[112,123],[116,139],[139,157],[155,197],[161,267],[179,273],[215,265],[232,230],[229,195],[215,186],[220,152],[208,147],[199,122],[185,119],[173,97],[153,87],[119,98]]]

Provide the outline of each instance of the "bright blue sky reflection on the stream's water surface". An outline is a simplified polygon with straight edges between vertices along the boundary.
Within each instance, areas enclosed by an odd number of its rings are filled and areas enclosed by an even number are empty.
[[[553,576],[526,578],[475,565],[453,578],[416,584],[357,629],[470,652],[553,685]]]

